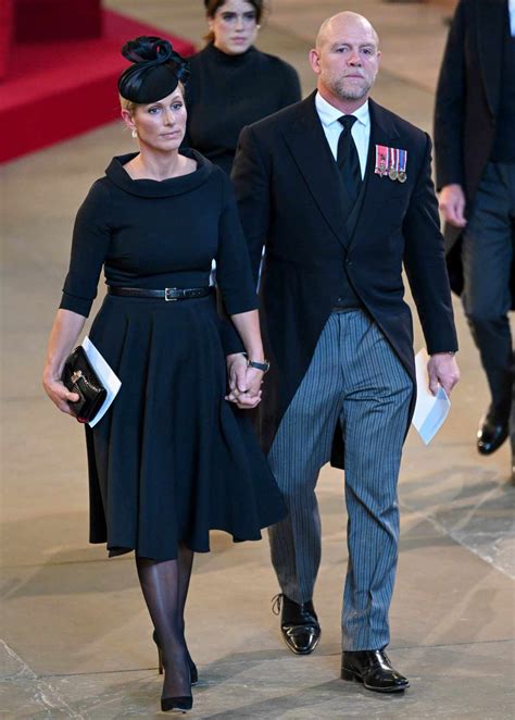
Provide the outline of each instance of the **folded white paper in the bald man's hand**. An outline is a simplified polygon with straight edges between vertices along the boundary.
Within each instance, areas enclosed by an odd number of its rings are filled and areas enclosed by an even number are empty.
[[[429,445],[443,425],[451,408],[451,401],[443,387],[439,387],[436,395],[429,389],[428,362],[429,356],[423,348],[415,356],[417,398],[412,422],[426,445]]]

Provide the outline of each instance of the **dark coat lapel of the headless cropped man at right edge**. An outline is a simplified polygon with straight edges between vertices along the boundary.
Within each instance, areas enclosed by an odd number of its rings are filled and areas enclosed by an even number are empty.
[[[499,108],[506,14],[506,0],[476,0],[476,42],[479,49],[482,87],[492,116],[495,116]]]

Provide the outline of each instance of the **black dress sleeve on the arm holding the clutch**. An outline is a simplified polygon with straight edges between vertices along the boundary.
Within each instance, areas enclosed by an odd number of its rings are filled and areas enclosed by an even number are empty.
[[[103,181],[97,181],[75,219],[70,269],[60,308],[85,318],[97,297],[100,272],[111,241],[109,208],[109,189]]]

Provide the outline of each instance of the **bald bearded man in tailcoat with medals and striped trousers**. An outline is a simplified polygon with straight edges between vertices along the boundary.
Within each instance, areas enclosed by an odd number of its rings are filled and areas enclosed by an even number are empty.
[[[282,636],[297,654],[318,643],[315,485],[330,458],[340,468],[344,461],[341,676],[393,692],[409,685],[385,647],[397,481],[415,399],[403,262],[431,356],[431,388],[450,392],[459,371],[430,141],[368,100],[377,46],[361,15],[327,20],[310,53],[317,91],[242,131],[233,178],[256,278],[266,248],[260,294],[272,368],[259,425],[290,511],[269,535]],[[236,362],[229,358],[230,371]]]

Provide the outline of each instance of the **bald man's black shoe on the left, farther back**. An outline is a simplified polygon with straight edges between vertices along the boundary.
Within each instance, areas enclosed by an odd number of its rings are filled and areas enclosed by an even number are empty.
[[[316,617],[313,603],[293,603],[286,595],[279,594],[274,598],[274,612],[280,616],[280,631],[282,640],[296,655],[310,655],[321,640],[321,625]]]

